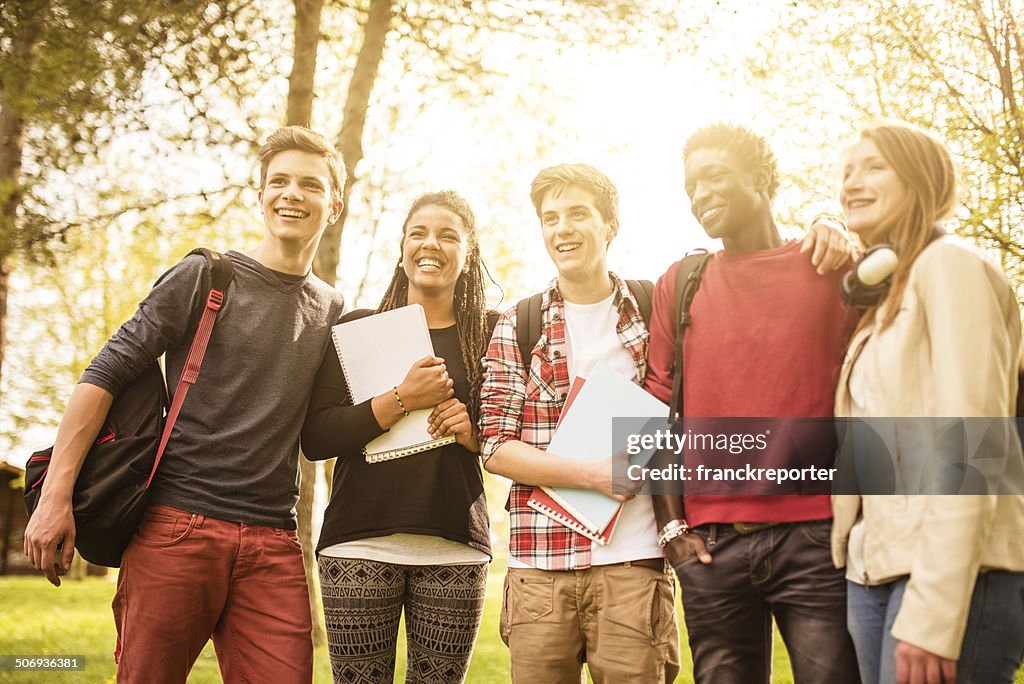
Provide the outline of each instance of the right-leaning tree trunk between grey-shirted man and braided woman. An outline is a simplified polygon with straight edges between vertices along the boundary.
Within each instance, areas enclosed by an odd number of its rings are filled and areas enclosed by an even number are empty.
[[[327,226],[319,249],[316,250],[316,257],[313,259],[313,272],[331,285],[338,279],[341,232],[345,226],[345,219],[348,218],[348,199],[355,182],[355,167],[362,159],[362,133],[367,125],[367,108],[370,106],[370,94],[373,92],[377,72],[384,57],[387,34],[391,30],[393,4],[393,0],[371,0],[367,23],[362,28],[362,47],[359,48],[352,79],[348,83],[341,133],[338,135],[338,147],[345,156],[346,178],[345,191],[342,196],[345,207],[341,210],[338,220]]]

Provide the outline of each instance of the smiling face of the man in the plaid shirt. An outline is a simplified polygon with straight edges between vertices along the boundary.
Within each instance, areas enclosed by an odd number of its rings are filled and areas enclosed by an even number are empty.
[[[577,283],[607,279],[608,245],[615,227],[605,220],[594,196],[578,185],[549,190],[541,200],[541,228],[558,276]]]

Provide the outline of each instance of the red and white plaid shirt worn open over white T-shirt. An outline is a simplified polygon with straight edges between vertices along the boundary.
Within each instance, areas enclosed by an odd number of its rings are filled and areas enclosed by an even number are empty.
[[[609,275],[618,310],[618,339],[633,357],[637,380],[642,382],[647,371],[647,328],[626,282],[614,273]],[[541,320],[541,337],[530,354],[528,373],[516,343],[515,307],[502,314],[490,337],[480,390],[480,453],[484,462],[513,439],[545,450],[555,433],[571,380],[565,357],[565,306],[558,279],[542,293]],[[512,483],[511,555],[545,570],[590,567],[591,541],[526,506],[532,490],[532,485]]]

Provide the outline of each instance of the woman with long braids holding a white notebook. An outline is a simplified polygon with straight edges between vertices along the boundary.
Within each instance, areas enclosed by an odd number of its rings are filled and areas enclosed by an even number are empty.
[[[334,346],[324,355],[302,447],[311,460],[338,459],[316,547],[336,682],[392,681],[403,610],[406,681],[466,677],[490,560],[476,418],[497,315],[485,308],[483,273],[466,201],[452,190],[421,196],[376,312],[421,304],[436,356],[414,364],[393,391],[352,405]],[[366,462],[369,441],[406,412],[429,408],[432,435],[455,443]]]

